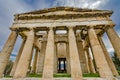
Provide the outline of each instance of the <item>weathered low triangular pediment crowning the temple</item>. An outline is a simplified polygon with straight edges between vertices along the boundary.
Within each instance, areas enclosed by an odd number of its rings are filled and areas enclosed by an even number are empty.
[[[112,11],[72,7],[54,7],[15,15],[15,20],[31,19],[71,19],[80,17],[111,16]]]

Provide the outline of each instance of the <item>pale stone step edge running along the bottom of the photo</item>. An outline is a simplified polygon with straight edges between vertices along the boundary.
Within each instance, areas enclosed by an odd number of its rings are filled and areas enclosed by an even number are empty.
[[[19,79],[13,79],[13,78],[1,78],[0,80],[75,80],[72,78],[54,78],[54,79],[41,79],[41,78],[19,78]],[[83,78],[83,80],[111,80],[111,79],[103,79],[103,78]],[[120,80],[120,79],[115,79]]]

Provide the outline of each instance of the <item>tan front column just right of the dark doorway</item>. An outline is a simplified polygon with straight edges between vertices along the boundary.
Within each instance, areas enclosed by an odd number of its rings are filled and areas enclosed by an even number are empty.
[[[71,77],[80,80],[82,79],[82,70],[79,61],[76,38],[72,27],[69,27],[68,39],[69,39]]]

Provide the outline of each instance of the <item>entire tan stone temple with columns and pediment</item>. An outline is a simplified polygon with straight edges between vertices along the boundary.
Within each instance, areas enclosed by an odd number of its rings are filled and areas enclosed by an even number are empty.
[[[20,35],[23,42],[10,73],[13,78],[36,73],[42,79],[52,79],[56,73],[68,73],[72,79],[82,80],[84,73],[99,73],[101,78],[112,80],[118,72],[102,40],[107,33],[120,59],[120,38],[113,29],[112,13],[55,7],[15,14],[11,34],[0,53],[0,77]]]

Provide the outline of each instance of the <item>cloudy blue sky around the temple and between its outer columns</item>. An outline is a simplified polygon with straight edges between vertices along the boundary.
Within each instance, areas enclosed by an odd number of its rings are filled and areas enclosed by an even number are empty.
[[[14,14],[50,8],[54,6],[72,6],[79,8],[91,8],[102,10],[113,10],[111,19],[116,24],[115,30],[120,36],[120,0],[0,0],[0,51],[2,50],[9,34],[13,22]],[[107,38],[104,36],[104,42],[110,53],[114,50]],[[18,37],[11,59],[15,59],[21,38]]]

